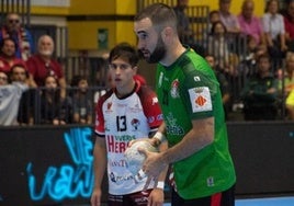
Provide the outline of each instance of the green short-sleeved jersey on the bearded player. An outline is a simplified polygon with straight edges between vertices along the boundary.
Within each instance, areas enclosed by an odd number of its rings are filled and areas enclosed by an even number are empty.
[[[183,139],[193,119],[214,117],[215,121],[213,144],[172,165],[179,195],[192,199],[233,186],[236,174],[228,149],[222,94],[206,60],[188,49],[170,67],[159,64],[156,90],[169,147]]]

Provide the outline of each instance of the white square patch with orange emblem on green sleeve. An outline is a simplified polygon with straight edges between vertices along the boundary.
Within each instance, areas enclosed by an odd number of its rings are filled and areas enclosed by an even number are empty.
[[[213,110],[211,92],[207,87],[190,89],[189,94],[193,113]]]

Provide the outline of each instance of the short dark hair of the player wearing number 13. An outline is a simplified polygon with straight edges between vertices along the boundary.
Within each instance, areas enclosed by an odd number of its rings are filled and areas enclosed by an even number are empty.
[[[139,55],[137,49],[128,43],[121,43],[111,49],[109,62],[111,64],[117,58],[123,58],[124,60],[127,60],[133,67],[137,66],[139,61]]]

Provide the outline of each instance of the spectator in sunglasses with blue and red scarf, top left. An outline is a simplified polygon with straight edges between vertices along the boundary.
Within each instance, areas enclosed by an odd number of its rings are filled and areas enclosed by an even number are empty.
[[[15,56],[23,60],[27,60],[34,53],[34,42],[29,30],[21,24],[18,13],[9,13],[4,25],[1,27],[0,42],[4,38],[12,38],[16,45]]]

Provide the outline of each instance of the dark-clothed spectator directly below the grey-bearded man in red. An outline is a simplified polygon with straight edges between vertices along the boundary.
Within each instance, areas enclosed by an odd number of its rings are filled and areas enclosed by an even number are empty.
[[[55,76],[47,76],[41,94],[41,123],[66,125],[71,123],[72,102],[69,96],[63,99]]]

